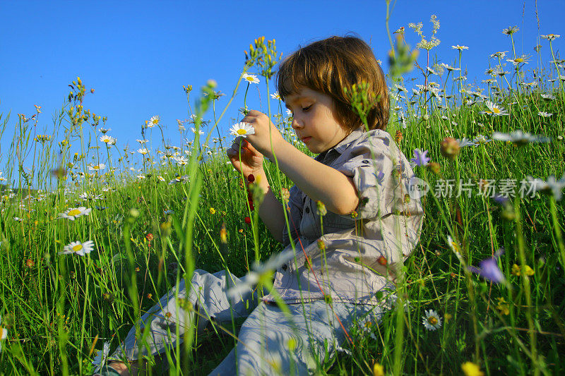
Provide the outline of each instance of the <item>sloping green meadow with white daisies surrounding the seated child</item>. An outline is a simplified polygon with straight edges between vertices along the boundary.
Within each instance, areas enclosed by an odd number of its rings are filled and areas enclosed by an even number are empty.
[[[559,36],[542,37],[553,56],[542,62],[538,47],[533,56],[516,54],[519,30],[504,29],[509,44],[500,48],[509,51],[493,51],[484,79],[472,84],[461,70],[467,47],[453,46],[453,66],[431,62],[436,22],[428,37],[421,24],[391,33],[389,57],[387,131],[427,188],[420,244],[397,271],[396,305],[380,324],[352,328],[351,341],[320,360],[318,372],[562,374],[565,66],[552,49]],[[415,62],[408,32],[420,35],[427,66]],[[261,37],[232,94],[216,92],[213,81],[179,87],[191,117],[179,121],[174,141],[165,140],[158,116],[143,123],[138,140],[112,138],[107,119],[88,110],[95,90],[87,85],[95,83],[80,78],[49,134],[36,133],[47,121],[38,106],[0,114],[0,137],[16,129],[0,151],[1,374],[89,375],[104,349],[113,351],[194,269],[272,277],[261,265],[283,245],[261,224],[258,205],[249,206],[225,156],[233,136],[219,127],[228,125],[228,107],[246,111],[248,90],[259,85],[270,119],[308,154],[284,103],[268,91],[279,60],[274,40]],[[408,71],[418,79],[404,80]],[[243,90],[242,103],[234,98]],[[369,104],[357,94],[362,114]],[[276,161],[265,165],[273,191],[292,186]],[[187,336],[169,372],[213,370],[239,324]]]

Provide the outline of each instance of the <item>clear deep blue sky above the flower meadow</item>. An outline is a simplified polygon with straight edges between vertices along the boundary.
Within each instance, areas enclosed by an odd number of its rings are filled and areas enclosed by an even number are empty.
[[[520,28],[518,54],[534,54],[540,43],[543,59],[550,60],[549,44],[539,35],[565,34],[564,11],[565,1],[538,1],[538,30],[534,0],[399,0],[390,25],[393,31],[422,21],[429,35],[429,18],[436,14],[441,44],[433,53],[453,63],[458,54],[451,45],[468,46],[463,67],[472,81],[486,78],[489,54],[511,49],[509,37],[501,33],[511,25]],[[51,133],[52,114],[61,109],[67,85],[77,76],[95,88],[85,108],[107,116],[118,145],[137,147],[141,125],[153,115],[161,117],[168,129],[165,138],[177,145],[176,119],[189,116],[182,85],[198,89],[213,78],[218,90],[231,94],[244,49],[254,38],[275,38],[278,51],[288,55],[299,45],[356,32],[386,61],[385,13],[384,1],[1,1],[0,113],[11,111],[11,122],[1,140],[0,166],[8,158],[17,114],[31,116],[34,104],[42,106],[37,133]],[[406,38],[412,47],[418,41],[408,28]],[[554,49],[561,50],[564,42],[565,35],[554,41]],[[420,54],[425,66],[423,59]],[[532,65],[535,60],[528,68]],[[261,102],[254,87],[249,104],[266,111],[265,87],[260,90]],[[238,116],[243,96],[244,86],[220,123],[223,132]],[[227,98],[220,99],[219,109]]]

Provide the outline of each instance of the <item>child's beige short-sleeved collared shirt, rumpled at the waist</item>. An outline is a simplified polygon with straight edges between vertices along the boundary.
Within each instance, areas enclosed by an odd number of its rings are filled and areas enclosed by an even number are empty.
[[[352,178],[359,205],[352,214],[321,215],[316,202],[290,188],[283,252],[292,249],[292,237],[295,258],[276,271],[275,290],[285,303],[331,296],[378,304],[376,292],[393,289],[397,268],[420,238],[424,213],[409,195],[412,168],[388,132],[362,128],[316,160]],[[274,301],[273,294],[263,301]]]

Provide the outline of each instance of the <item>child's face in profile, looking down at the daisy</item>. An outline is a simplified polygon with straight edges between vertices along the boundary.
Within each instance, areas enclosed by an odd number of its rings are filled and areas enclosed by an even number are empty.
[[[331,149],[350,133],[333,116],[333,101],[326,94],[302,87],[285,97],[285,104],[292,111],[297,137],[313,153]]]

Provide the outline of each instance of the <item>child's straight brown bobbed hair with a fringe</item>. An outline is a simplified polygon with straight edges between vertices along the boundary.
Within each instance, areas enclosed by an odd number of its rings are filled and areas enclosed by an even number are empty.
[[[322,92],[333,99],[335,119],[353,130],[362,125],[351,105],[352,85],[367,83],[367,94],[376,102],[367,113],[369,129],[385,129],[388,123],[388,88],[371,47],[357,37],[329,37],[301,47],[288,56],[277,72],[280,97],[299,92],[300,87]]]

